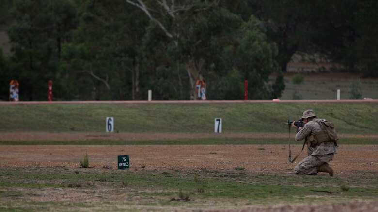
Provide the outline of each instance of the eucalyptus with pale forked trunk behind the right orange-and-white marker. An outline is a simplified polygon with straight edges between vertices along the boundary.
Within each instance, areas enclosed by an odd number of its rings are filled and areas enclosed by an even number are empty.
[[[204,79],[204,65],[207,61],[194,52],[202,45],[207,46],[208,43],[205,43],[201,37],[204,33],[194,34],[193,32],[199,32],[200,27],[207,27],[205,24],[206,13],[217,7],[219,0],[205,2],[200,0],[172,0],[170,2],[166,0],[126,0],[126,2],[141,9],[173,43],[171,48],[181,53],[181,57],[176,56],[178,81],[182,85],[179,64],[184,63],[189,76],[190,93],[195,96],[194,83],[198,79]],[[156,9],[152,10],[151,8]]]

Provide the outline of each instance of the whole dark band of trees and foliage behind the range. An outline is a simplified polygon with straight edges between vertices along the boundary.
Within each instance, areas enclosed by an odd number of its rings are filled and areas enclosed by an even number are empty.
[[[3,0],[12,54],[0,51],[0,99],[274,99],[295,52],[377,76],[374,0]],[[1,49],[0,49],[1,50]],[[269,80],[272,73],[277,78]]]

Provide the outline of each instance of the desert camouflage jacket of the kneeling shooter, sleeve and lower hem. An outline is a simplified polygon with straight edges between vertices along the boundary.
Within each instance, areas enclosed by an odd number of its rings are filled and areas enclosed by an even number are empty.
[[[319,120],[319,118],[314,118],[312,121],[305,124],[295,136],[295,140],[302,141],[307,136],[321,131],[322,128],[316,120]],[[337,153],[337,147],[333,142],[322,142],[316,147],[310,147],[310,145],[307,144],[307,155],[327,155],[331,153]]]

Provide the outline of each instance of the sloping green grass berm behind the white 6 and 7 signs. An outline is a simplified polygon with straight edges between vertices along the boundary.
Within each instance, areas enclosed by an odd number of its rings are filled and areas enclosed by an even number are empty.
[[[212,104],[31,104],[1,105],[3,132],[212,133],[222,118],[224,133],[283,133],[284,122],[313,109],[338,133],[378,134],[378,103],[212,103]]]

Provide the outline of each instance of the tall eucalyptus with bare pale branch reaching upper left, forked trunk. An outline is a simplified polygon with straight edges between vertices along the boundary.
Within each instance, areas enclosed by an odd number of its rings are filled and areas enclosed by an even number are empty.
[[[169,43],[167,48],[173,53],[180,90],[184,83],[180,74],[181,64],[185,66],[190,85],[190,94],[195,96],[196,80],[203,80],[205,70],[212,64],[209,52],[212,39],[217,39],[224,31],[235,28],[238,17],[219,8],[220,0],[126,0],[139,8],[162,30]],[[221,18],[214,20],[211,15]],[[222,15],[220,15],[222,14]],[[218,22],[218,23],[217,23]],[[237,24],[236,24],[237,26]],[[214,28],[212,28],[214,27]],[[222,28],[223,27],[223,28]],[[168,52],[168,51],[167,51]],[[180,99],[184,99],[182,91]]]

